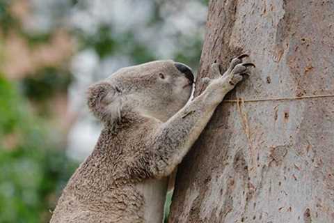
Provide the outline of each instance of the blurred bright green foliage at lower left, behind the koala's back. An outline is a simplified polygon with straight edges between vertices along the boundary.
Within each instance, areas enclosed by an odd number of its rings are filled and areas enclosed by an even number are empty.
[[[47,222],[56,193],[77,164],[18,92],[0,76],[0,222]]]

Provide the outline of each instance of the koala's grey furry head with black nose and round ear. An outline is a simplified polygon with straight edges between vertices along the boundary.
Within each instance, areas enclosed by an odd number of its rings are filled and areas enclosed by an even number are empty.
[[[191,97],[194,77],[182,63],[154,61],[122,68],[88,89],[88,107],[103,122],[127,112],[167,121]]]

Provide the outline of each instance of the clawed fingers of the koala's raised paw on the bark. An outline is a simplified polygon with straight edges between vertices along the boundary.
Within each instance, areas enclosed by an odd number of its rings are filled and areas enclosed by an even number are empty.
[[[230,67],[223,74],[223,77],[221,77],[225,82],[230,84],[231,87],[234,87],[235,84],[241,82],[244,75],[249,74],[248,67],[255,67],[254,63],[243,63],[242,59],[247,56],[247,54],[241,54],[237,58],[232,59]]]

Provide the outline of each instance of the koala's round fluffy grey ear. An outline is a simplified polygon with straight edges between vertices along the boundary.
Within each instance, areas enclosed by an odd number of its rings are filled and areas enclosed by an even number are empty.
[[[102,122],[120,121],[120,91],[109,82],[98,82],[88,88],[88,107]]]

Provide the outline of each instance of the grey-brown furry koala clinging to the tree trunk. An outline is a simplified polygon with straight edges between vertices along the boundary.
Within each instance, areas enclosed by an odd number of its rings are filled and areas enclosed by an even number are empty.
[[[157,223],[168,176],[198,139],[226,93],[243,79],[243,54],[193,100],[191,68],[171,60],[122,68],[88,89],[88,107],[104,128],[70,178],[51,223]]]

